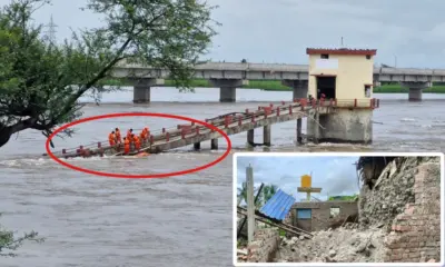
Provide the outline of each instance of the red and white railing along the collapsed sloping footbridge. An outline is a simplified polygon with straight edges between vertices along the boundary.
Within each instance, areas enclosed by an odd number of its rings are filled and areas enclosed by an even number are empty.
[[[284,112],[291,113],[295,112],[294,109],[299,108],[299,111],[306,111],[308,109],[316,109],[319,107],[333,107],[333,108],[365,108],[365,109],[375,109],[379,107],[379,100],[372,99],[294,99],[293,102],[281,101],[279,105],[269,103],[268,106],[258,106],[257,109],[246,109],[240,112],[233,112],[231,115],[219,116],[212,119],[205,119],[206,122],[215,126],[225,128],[230,125],[237,122],[238,125],[243,125],[246,120],[250,120],[255,122],[258,117],[268,117],[271,115],[280,116]],[[298,111],[298,110],[297,110]],[[170,138],[180,136],[181,138],[186,138],[191,134],[201,132],[206,129],[206,126],[195,125],[195,122],[187,125],[178,125],[177,127],[171,128],[160,128],[156,130],[150,130],[148,134],[148,140],[145,140],[145,144],[154,144],[157,140],[166,139],[169,141]],[[142,129],[134,129],[134,132],[140,132]],[[123,132],[122,137],[126,136]],[[81,150],[85,149],[100,149],[103,147],[109,147],[108,140],[101,140],[97,142],[87,144],[83,146],[71,147],[62,149],[61,151],[53,152],[55,155],[63,156],[65,154],[80,154]]]

